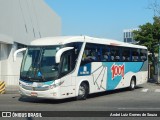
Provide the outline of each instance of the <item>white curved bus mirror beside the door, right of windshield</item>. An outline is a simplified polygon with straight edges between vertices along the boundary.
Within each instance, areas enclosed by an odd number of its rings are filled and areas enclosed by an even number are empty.
[[[72,50],[72,49],[74,49],[74,47],[65,47],[65,48],[58,50],[58,52],[56,53],[56,63],[60,63],[62,53],[68,50]]]

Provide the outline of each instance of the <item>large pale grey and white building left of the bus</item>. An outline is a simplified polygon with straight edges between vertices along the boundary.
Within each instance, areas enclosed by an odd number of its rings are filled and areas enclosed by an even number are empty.
[[[18,85],[23,54],[13,53],[37,38],[61,34],[61,19],[45,0],[0,1],[0,80]]]

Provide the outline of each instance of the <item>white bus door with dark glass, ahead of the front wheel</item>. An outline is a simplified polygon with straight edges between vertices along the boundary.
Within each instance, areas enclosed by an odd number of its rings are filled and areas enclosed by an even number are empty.
[[[61,77],[61,95],[72,96],[75,94],[74,77],[72,71],[75,67],[75,59],[73,50],[63,53],[60,63],[60,77]]]

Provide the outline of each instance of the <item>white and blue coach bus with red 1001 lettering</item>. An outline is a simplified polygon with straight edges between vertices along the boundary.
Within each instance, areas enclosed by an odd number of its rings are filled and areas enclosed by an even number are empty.
[[[22,96],[84,100],[89,94],[147,82],[147,47],[89,36],[34,40],[24,51],[19,90]]]

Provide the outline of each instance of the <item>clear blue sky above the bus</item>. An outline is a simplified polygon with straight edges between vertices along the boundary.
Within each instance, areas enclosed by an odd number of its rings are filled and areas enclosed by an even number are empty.
[[[160,0],[157,0],[160,2]],[[123,30],[153,22],[153,0],[45,0],[61,18],[62,35],[123,41]]]

